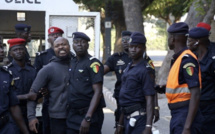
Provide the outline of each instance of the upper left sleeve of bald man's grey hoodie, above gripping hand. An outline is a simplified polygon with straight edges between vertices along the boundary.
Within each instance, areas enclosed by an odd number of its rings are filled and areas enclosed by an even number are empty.
[[[50,69],[49,66],[45,66],[38,72],[32,86],[31,86],[31,89],[35,93],[38,93],[42,87],[46,86],[47,82],[50,79],[49,74],[50,74],[51,70],[52,69]]]

